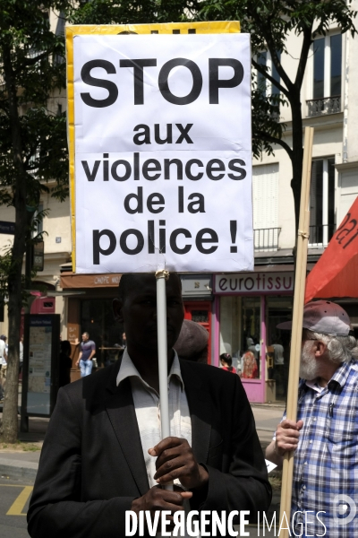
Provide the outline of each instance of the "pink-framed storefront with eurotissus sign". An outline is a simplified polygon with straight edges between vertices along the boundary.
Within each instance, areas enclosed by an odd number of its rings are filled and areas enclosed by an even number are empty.
[[[292,318],[294,272],[214,277],[214,364],[230,353],[250,402],[286,400],[290,334],[277,324]]]

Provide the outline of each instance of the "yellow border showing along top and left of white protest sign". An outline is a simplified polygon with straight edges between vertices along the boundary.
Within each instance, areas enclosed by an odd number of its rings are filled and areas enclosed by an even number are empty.
[[[176,30],[176,31],[174,31]],[[116,35],[119,33],[172,34],[172,33],[240,33],[240,22],[166,22],[162,24],[73,24],[65,28],[67,56],[67,136],[70,159],[72,270],[76,267],[76,222],[74,195],[74,81],[73,38],[83,35]],[[194,31],[189,31],[194,30]]]

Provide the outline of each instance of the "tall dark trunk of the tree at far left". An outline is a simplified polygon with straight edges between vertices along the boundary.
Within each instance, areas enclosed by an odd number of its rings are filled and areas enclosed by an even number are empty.
[[[8,278],[9,353],[5,386],[3,422],[0,433],[7,443],[15,443],[18,432],[19,355],[21,327],[21,272],[26,247],[26,171],[22,162],[21,122],[19,117],[16,82],[11,60],[11,45],[3,47],[4,82],[8,93],[9,117],[13,143],[13,163],[16,169],[14,185],[15,233],[12,264]]]

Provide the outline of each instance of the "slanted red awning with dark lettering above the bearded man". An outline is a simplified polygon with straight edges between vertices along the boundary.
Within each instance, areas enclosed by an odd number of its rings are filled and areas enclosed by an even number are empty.
[[[358,196],[306,280],[304,302],[358,299]]]

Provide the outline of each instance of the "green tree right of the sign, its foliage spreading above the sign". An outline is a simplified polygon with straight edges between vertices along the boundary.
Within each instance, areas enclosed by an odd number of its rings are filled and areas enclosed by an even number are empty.
[[[294,213],[298,226],[303,170],[303,115],[301,88],[312,41],[326,35],[329,25],[337,23],[345,33],[354,27],[351,0],[166,0],[136,2],[124,0],[93,0],[69,13],[73,23],[109,24],[129,22],[240,21],[242,31],[251,34],[252,67],[264,79],[275,85],[279,93],[267,95],[252,79],[252,152],[273,153],[275,144],[283,147],[292,162],[291,187]],[[290,32],[302,36],[299,62],[294,77],[286,73],[280,54],[286,53]],[[260,53],[269,51],[279,80],[260,63]],[[279,118],[280,107],[288,105],[292,112],[292,146],[283,140],[286,125]]]

